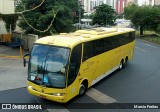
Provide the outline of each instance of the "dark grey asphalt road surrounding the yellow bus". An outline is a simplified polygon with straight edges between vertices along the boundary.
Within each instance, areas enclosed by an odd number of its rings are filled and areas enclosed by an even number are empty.
[[[0,71],[2,69],[4,68],[0,67]],[[19,69],[20,73],[23,73],[22,71],[23,69]],[[2,73],[4,74],[4,72]],[[0,72],[0,76],[2,73]],[[127,68],[112,73],[91,88],[97,91],[97,94],[99,94],[97,97],[86,94],[83,97],[74,98],[68,104],[59,104],[28,94],[25,84],[23,84],[23,88],[1,90],[0,103],[42,104],[46,108],[46,110],[40,110],[42,112],[159,112],[159,109],[95,109],[101,102],[100,96],[104,96],[103,99],[107,96],[107,98],[114,99],[117,103],[160,103],[159,79],[160,46],[137,39],[134,59],[128,63]],[[81,109],[80,107],[79,109],[70,108],[73,104],[78,103],[81,104]],[[90,106],[92,109],[83,109],[85,105]],[[5,111],[0,110],[0,112]],[[32,111],[28,110],[27,112]]]

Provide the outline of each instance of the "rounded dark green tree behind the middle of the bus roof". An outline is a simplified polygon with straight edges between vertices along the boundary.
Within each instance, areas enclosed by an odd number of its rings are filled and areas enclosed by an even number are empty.
[[[113,25],[115,19],[116,17],[114,9],[112,9],[112,7],[107,4],[102,4],[96,7],[92,24],[98,24],[102,26]]]

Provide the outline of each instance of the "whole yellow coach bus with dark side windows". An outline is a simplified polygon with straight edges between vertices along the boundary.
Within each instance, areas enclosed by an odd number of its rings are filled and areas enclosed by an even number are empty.
[[[125,67],[134,47],[135,30],[131,28],[100,27],[40,38],[28,54],[28,92],[68,102]]]

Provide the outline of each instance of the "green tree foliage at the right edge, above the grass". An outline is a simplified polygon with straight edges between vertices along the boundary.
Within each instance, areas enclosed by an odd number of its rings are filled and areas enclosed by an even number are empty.
[[[160,7],[129,5],[124,9],[126,19],[140,27],[140,35],[144,29],[156,30],[160,24]]]

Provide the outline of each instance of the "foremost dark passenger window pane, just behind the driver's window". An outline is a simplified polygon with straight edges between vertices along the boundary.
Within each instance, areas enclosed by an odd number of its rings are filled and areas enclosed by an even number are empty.
[[[93,42],[85,42],[83,48],[83,61],[94,56],[94,43]]]

